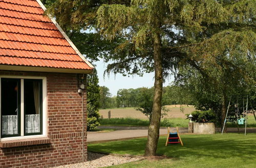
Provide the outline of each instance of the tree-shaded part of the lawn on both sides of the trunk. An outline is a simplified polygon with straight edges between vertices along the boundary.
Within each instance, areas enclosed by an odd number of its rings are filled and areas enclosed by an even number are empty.
[[[245,157],[255,159],[256,134],[215,134],[215,135],[182,135],[184,146],[180,144],[165,147],[166,137],[160,137],[158,155],[182,159],[186,157],[232,158]],[[89,145],[89,150],[96,152],[144,155],[146,138],[121,142]]]

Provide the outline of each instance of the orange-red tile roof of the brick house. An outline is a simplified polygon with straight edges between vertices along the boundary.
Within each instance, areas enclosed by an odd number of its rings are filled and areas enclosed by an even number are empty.
[[[0,65],[92,70],[36,0],[0,0]]]

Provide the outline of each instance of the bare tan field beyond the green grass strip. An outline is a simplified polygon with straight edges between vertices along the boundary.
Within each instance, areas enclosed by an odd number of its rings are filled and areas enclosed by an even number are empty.
[[[196,110],[192,105],[166,105],[169,111],[167,116],[164,118],[183,118],[185,119],[185,114],[190,114],[192,111]],[[183,112],[181,111],[183,109]],[[135,108],[114,108],[114,109],[100,109],[99,114],[102,115],[104,119],[108,118],[108,111],[111,111],[111,118],[135,118],[135,119],[147,119],[140,111],[135,110]]]

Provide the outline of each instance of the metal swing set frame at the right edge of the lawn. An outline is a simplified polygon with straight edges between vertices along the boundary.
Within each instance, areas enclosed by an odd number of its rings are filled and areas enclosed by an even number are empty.
[[[237,96],[237,103],[238,103],[238,96],[247,96],[247,100],[246,100],[246,113],[245,113],[245,132],[244,132],[244,135],[246,135],[247,119],[248,119],[248,95],[233,95],[233,96]],[[228,107],[227,107],[227,113],[226,113],[226,117],[225,117],[225,121],[224,121],[224,125],[223,125],[223,128],[222,128],[221,134],[223,134],[223,131],[225,129],[225,125],[226,125],[226,122],[227,122],[227,115],[228,115],[228,110],[229,110],[231,98],[232,98],[232,96],[230,96],[230,99],[229,99],[229,103],[228,103]],[[251,104],[251,108],[252,108],[252,113],[253,113],[254,119],[256,121],[256,116],[255,116],[255,112],[254,112],[254,109],[252,107],[252,104]],[[239,109],[238,109],[237,113],[239,113]],[[244,101],[243,101],[243,113],[244,113]],[[238,117],[238,114],[237,114],[237,117]]]

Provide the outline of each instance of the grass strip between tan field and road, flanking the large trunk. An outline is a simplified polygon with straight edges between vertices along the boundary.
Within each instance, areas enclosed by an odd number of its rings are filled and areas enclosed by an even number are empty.
[[[134,119],[134,118],[113,118],[100,119],[101,126],[148,126],[149,120]],[[182,118],[162,119],[162,127],[188,127],[188,120]]]

